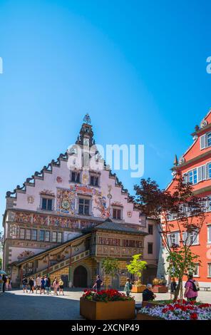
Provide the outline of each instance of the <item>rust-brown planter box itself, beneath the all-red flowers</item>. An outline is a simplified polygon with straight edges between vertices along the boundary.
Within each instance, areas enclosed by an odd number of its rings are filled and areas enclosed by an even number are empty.
[[[135,301],[91,301],[81,297],[80,315],[88,320],[135,319]]]

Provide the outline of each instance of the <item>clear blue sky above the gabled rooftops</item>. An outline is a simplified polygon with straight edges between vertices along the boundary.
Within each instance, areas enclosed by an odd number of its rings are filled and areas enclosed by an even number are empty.
[[[0,213],[76,140],[144,144],[161,187],[211,107],[210,1],[0,0]],[[133,190],[130,172],[120,180]]]

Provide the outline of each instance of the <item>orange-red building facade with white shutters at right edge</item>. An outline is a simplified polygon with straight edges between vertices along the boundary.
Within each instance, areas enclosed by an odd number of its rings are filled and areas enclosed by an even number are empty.
[[[210,197],[205,206],[206,219],[202,230],[195,243],[192,245],[192,252],[200,256],[201,264],[196,264],[195,278],[203,287],[210,287],[211,283],[211,110],[192,133],[193,143],[177,163],[175,170],[182,172],[184,181],[192,182],[194,192],[200,197]],[[168,190],[173,190],[174,180],[168,185]],[[177,237],[177,223],[171,220],[172,232]],[[166,275],[167,263],[165,262],[166,252],[160,249],[160,260],[158,273]],[[165,264],[164,264],[165,263]],[[185,277],[184,277],[185,280]]]

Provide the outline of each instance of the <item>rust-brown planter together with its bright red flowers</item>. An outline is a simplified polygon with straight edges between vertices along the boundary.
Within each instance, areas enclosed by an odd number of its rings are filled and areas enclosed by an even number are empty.
[[[80,315],[88,320],[135,319],[135,300],[115,289],[85,290],[80,299]]]

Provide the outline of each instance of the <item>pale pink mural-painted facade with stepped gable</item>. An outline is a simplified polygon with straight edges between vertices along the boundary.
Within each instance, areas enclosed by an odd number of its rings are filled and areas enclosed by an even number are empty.
[[[87,122],[81,126],[76,144],[82,145],[85,141],[89,146],[94,143],[93,130]],[[123,245],[115,245],[115,242],[111,242],[113,244],[110,246],[110,241],[115,240],[115,237],[106,239],[108,232],[105,232],[101,246],[96,247],[98,254],[91,252],[88,256],[92,259],[91,267],[96,267],[99,259],[108,254],[110,257],[118,257],[120,254],[121,262],[129,262],[132,254],[141,249],[145,259],[148,259],[149,267],[152,266],[155,272],[159,252],[158,237],[155,230],[153,235],[147,236],[148,220],[135,209],[128,191],[104,162],[103,170],[69,170],[69,155],[71,153],[67,150],[65,154],[59,155],[57,160],[52,160],[44,166],[40,172],[36,171],[33,176],[27,178],[22,187],[18,185],[13,192],[6,193],[3,222],[4,269],[10,271],[12,267],[13,283],[19,284],[23,271],[43,271],[52,266],[56,267],[56,263],[63,260],[68,262],[69,259],[70,262],[71,257],[75,257],[74,253],[85,252],[79,246],[72,250],[70,242],[69,247],[61,252],[59,257],[54,252],[48,254],[48,260],[43,256],[46,251],[66,245],[68,241],[73,241],[75,245],[75,241],[79,241],[86,230],[92,230],[94,234],[95,228],[106,219],[112,220],[114,225],[123,225],[128,230],[135,229],[139,232],[138,239],[142,241],[142,246],[135,249],[131,242],[129,251]],[[152,220],[151,224],[154,225]],[[145,249],[148,242],[145,244],[143,237],[153,243],[153,253],[148,254],[148,249]],[[133,241],[136,239],[135,234]],[[96,243],[92,243],[93,245]],[[86,235],[81,246],[86,248]],[[70,254],[70,249],[73,254]],[[24,268],[25,264],[22,269],[13,268],[13,264],[23,264],[25,261],[27,263],[27,259],[31,257],[36,257],[33,262],[29,262],[33,264]],[[98,271],[100,267],[98,264]],[[91,272],[89,278],[92,278],[93,271],[86,271]],[[94,271],[95,275],[96,272],[97,269]],[[73,282],[71,274],[68,274],[68,282]]]

